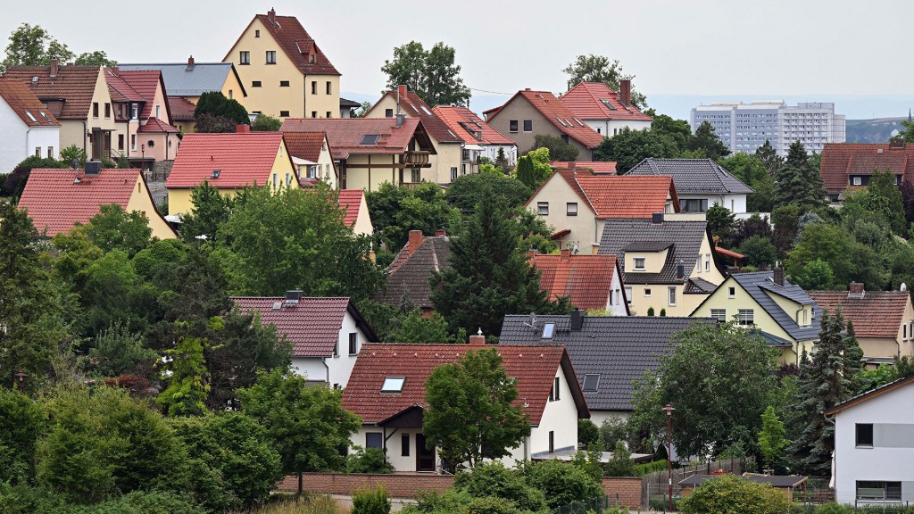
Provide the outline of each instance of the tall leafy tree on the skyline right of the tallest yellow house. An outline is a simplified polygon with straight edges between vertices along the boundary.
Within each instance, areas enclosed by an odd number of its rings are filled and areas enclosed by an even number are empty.
[[[463,85],[461,67],[454,64],[455,53],[443,42],[428,50],[418,41],[394,48],[393,59],[385,59],[381,67],[388,76],[388,90],[406,85],[432,107],[466,105],[470,88]]]

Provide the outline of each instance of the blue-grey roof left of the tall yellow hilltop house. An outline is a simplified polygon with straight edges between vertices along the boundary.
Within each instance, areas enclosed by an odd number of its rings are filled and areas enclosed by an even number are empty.
[[[186,62],[168,62],[152,64],[118,64],[119,70],[159,70],[165,81],[165,90],[169,96],[200,96],[207,91],[222,91],[232,73],[241,85],[241,95],[248,96],[244,84],[238,76],[238,70],[230,62],[195,62],[188,66]]]

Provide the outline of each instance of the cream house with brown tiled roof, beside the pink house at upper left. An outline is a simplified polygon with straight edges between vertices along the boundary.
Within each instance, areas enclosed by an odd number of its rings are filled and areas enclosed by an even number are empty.
[[[10,66],[6,80],[25,83],[60,123],[58,147],[75,145],[89,159],[116,157],[113,140],[123,134],[112,112],[112,98],[101,66]]]

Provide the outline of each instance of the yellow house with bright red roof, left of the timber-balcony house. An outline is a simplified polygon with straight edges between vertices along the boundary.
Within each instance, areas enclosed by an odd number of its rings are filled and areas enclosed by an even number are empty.
[[[235,134],[184,136],[165,182],[169,215],[191,212],[191,191],[204,182],[229,196],[249,186],[300,187],[282,134],[247,132],[248,125],[241,126]]]

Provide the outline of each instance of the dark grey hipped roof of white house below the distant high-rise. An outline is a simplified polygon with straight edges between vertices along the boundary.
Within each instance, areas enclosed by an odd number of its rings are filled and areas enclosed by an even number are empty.
[[[746,194],[751,187],[733,177],[711,159],[655,159],[648,157],[632,167],[625,175],[665,175],[673,177],[676,192]]]

